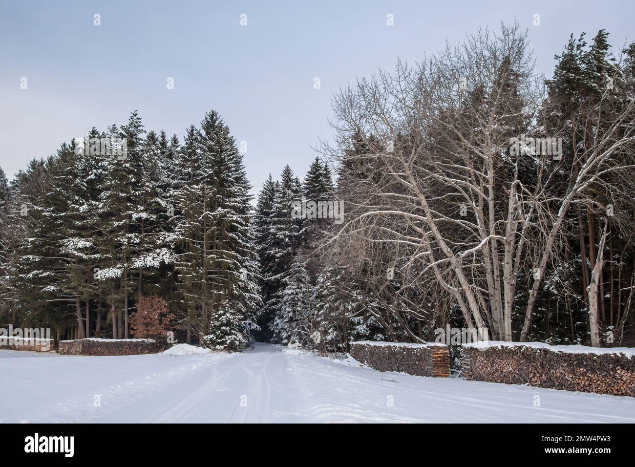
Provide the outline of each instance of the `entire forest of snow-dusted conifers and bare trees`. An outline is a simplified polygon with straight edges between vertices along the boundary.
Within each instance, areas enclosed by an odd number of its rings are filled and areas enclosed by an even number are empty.
[[[257,196],[216,111],[182,137],[137,111],[60,135],[0,168],[0,327],[635,346],[635,43],[572,34],[550,78],[534,62],[502,25],[342,85],[309,170],[290,160]]]

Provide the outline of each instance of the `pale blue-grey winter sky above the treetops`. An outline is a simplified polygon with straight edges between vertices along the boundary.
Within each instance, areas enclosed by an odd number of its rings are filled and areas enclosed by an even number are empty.
[[[246,142],[257,193],[286,163],[304,177],[312,147],[331,139],[333,93],[398,57],[414,62],[515,19],[535,72],[549,76],[572,33],[634,40],[634,13],[632,1],[0,0],[0,167],[11,178],[135,109],[146,130],[182,140],[214,109]]]

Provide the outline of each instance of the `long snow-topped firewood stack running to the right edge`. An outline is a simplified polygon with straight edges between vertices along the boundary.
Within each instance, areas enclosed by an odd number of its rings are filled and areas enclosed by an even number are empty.
[[[544,342],[464,344],[465,379],[635,396],[635,349],[550,346]]]

